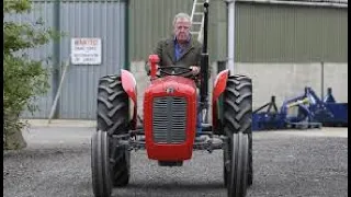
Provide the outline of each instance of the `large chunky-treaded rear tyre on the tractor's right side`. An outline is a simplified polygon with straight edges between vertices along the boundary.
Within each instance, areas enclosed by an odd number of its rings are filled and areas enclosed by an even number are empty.
[[[224,162],[228,162],[231,157],[231,149],[234,144],[230,144],[234,140],[233,135],[241,132],[248,138],[248,162],[247,162],[247,178],[248,186],[252,185],[253,172],[252,172],[252,83],[251,79],[245,76],[230,76],[227,80],[227,85],[223,96],[223,129],[224,135],[228,137],[226,143],[227,153],[224,154]],[[245,148],[241,148],[245,149]],[[226,151],[226,150],[225,150]],[[228,172],[230,167],[224,165],[224,179],[225,185],[228,187]],[[246,188],[245,188],[246,189]]]

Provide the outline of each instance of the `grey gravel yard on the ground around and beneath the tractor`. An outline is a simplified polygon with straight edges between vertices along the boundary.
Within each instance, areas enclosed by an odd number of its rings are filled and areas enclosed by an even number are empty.
[[[93,197],[92,127],[33,127],[29,147],[3,157],[4,197]],[[253,134],[254,197],[348,196],[348,128]],[[131,184],[114,197],[225,197],[222,151],[196,151],[182,167],[132,153]]]

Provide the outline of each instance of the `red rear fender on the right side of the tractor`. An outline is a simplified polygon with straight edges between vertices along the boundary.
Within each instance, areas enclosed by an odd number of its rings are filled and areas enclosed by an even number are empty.
[[[219,72],[214,83],[213,96],[212,96],[212,114],[213,114],[212,125],[214,130],[217,130],[217,127],[218,127],[218,99],[227,86],[228,76],[229,76],[228,69]]]

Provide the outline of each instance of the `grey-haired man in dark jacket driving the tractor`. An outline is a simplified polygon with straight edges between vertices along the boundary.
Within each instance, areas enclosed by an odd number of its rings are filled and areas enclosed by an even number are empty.
[[[174,16],[172,36],[158,42],[157,47],[154,50],[154,54],[158,55],[160,59],[160,67],[181,66],[192,69],[192,72],[190,73],[192,76],[197,76],[200,73],[202,45],[200,42],[197,42],[197,39],[192,37],[190,33],[191,25],[192,23],[189,14],[178,13]],[[146,69],[149,74],[149,67],[146,67]],[[177,69],[174,70],[177,72]],[[189,77],[189,74],[184,77]],[[199,80],[196,80],[195,82],[199,92]],[[197,97],[197,101],[200,102],[200,96]],[[197,111],[196,141],[203,140],[199,136],[202,130],[201,119],[202,113]]]

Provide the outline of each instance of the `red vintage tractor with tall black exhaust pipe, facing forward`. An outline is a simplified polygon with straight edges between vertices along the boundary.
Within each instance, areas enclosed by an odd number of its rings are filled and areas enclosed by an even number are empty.
[[[252,84],[245,76],[224,70],[217,74],[212,95],[212,124],[207,124],[207,23],[204,3],[200,109],[205,115],[206,141],[196,141],[197,93],[194,80],[183,77],[184,67],[159,67],[149,56],[151,83],[144,93],[143,128],[137,128],[136,81],[131,72],[99,80],[98,128],[91,139],[92,186],[95,197],[110,197],[113,187],[126,186],[131,176],[131,151],[146,149],[150,160],[162,166],[181,166],[194,150],[223,150],[224,185],[229,197],[246,196],[252,184]],[[174,72],[173,70],[181,70]],[[220,104],[223,103],[223,104]]]

